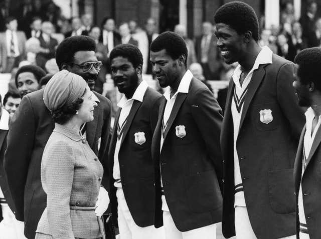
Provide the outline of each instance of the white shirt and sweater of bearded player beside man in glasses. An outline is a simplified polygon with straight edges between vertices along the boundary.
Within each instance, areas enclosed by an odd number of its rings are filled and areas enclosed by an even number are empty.
[[[142,102],[145,92],[147,90],[148,84],[145,81],[142,81],[137,89],[135,90],[133,96],[131,99],[127,100],[126,96],[123,95],[121,100],[118,102],[117,106],[121,108],[120,110],[120,115],[118,119],[118,124],[120,126],[120,134],[121,136],[118,137],[117,133],[117,141],[116,141],[116,146],[115,146],[115,153],[114,153],[114,166],[113,166],[113,173],[112,176],[115,179],[114,186],[121,188],[121,179],[120,176],[120,169],[119,169],[119,160],[118,160],[118,155],[119,155],[119,150],[120,150],[120,143],[122,140],[122,130],[125,127],[125,124],[127,122],[127,117],[129,115],[129,112],[131,110],[132,104],[134,100]],[[117,127],[117,125],[114,125],[114,127]]]

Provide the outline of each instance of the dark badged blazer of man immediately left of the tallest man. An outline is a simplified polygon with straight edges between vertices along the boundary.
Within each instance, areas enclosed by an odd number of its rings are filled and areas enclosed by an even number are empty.
[[[166,99],[159,106],[151,153],[155,170],[155,227],[163,225],[164,193],[175,225],[188,231],[221,221],[222,157],[219,145],[222,110],[211,91],[193,77],[189,93],[178,93],[159,153]],[[185,126],[186,136],[176,136]]]

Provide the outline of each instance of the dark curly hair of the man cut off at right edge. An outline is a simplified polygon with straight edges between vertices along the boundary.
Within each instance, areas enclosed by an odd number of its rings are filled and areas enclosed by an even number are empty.
[[[313,82],[317,90],[321,91],[321,48],[312,47],[300,51],[294,58],[298,65],[297,75],[303,84]]]

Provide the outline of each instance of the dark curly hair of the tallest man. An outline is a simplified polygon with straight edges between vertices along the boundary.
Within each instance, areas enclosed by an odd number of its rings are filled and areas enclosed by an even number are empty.
[[[233,28],[238,34],[251,31],[252,38],[259,40],[259,22],[253,8],[243,2],[234,1],[224,4],[215,15],[216,24],[224,23]]]

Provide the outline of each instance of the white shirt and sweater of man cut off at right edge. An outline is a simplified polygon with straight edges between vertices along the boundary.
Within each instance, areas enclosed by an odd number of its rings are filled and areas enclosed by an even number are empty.
[[[311,107],[309,107],[306,112],[305,112],[305,120],[306,120],[306,130],[304,133],[304,138],[303,138],[303,158],[302,158],[302,173],[301,173],[301,177],[303,176],[303,172],[304,172],[304,167],[306,164],[306,159],[309,156],[310,150],[311,150],[311,146],[312,143],[314,141],[315,138],[315,134],[321,124],[321,116],[319,116],[317,124],[313,130],[313,134],[311,134],[312,132],[312,122],[313,119],[315,118],[314,112],[312,110]],[[305,219],[305,214],[304,214],[304,207],[303,207],[303,194],[302,194],[302,182],[300,183],[300,189],[299,189],[299,194],[298,194],[298,214],[299,214],[299,221],[302,224],[300,227],[305,227],[305,229],[307,229],[306,227],[306,219]],[[301,231],[300,233],[300,238],[309,238],[309,235],[306,233],[302,233]]]

